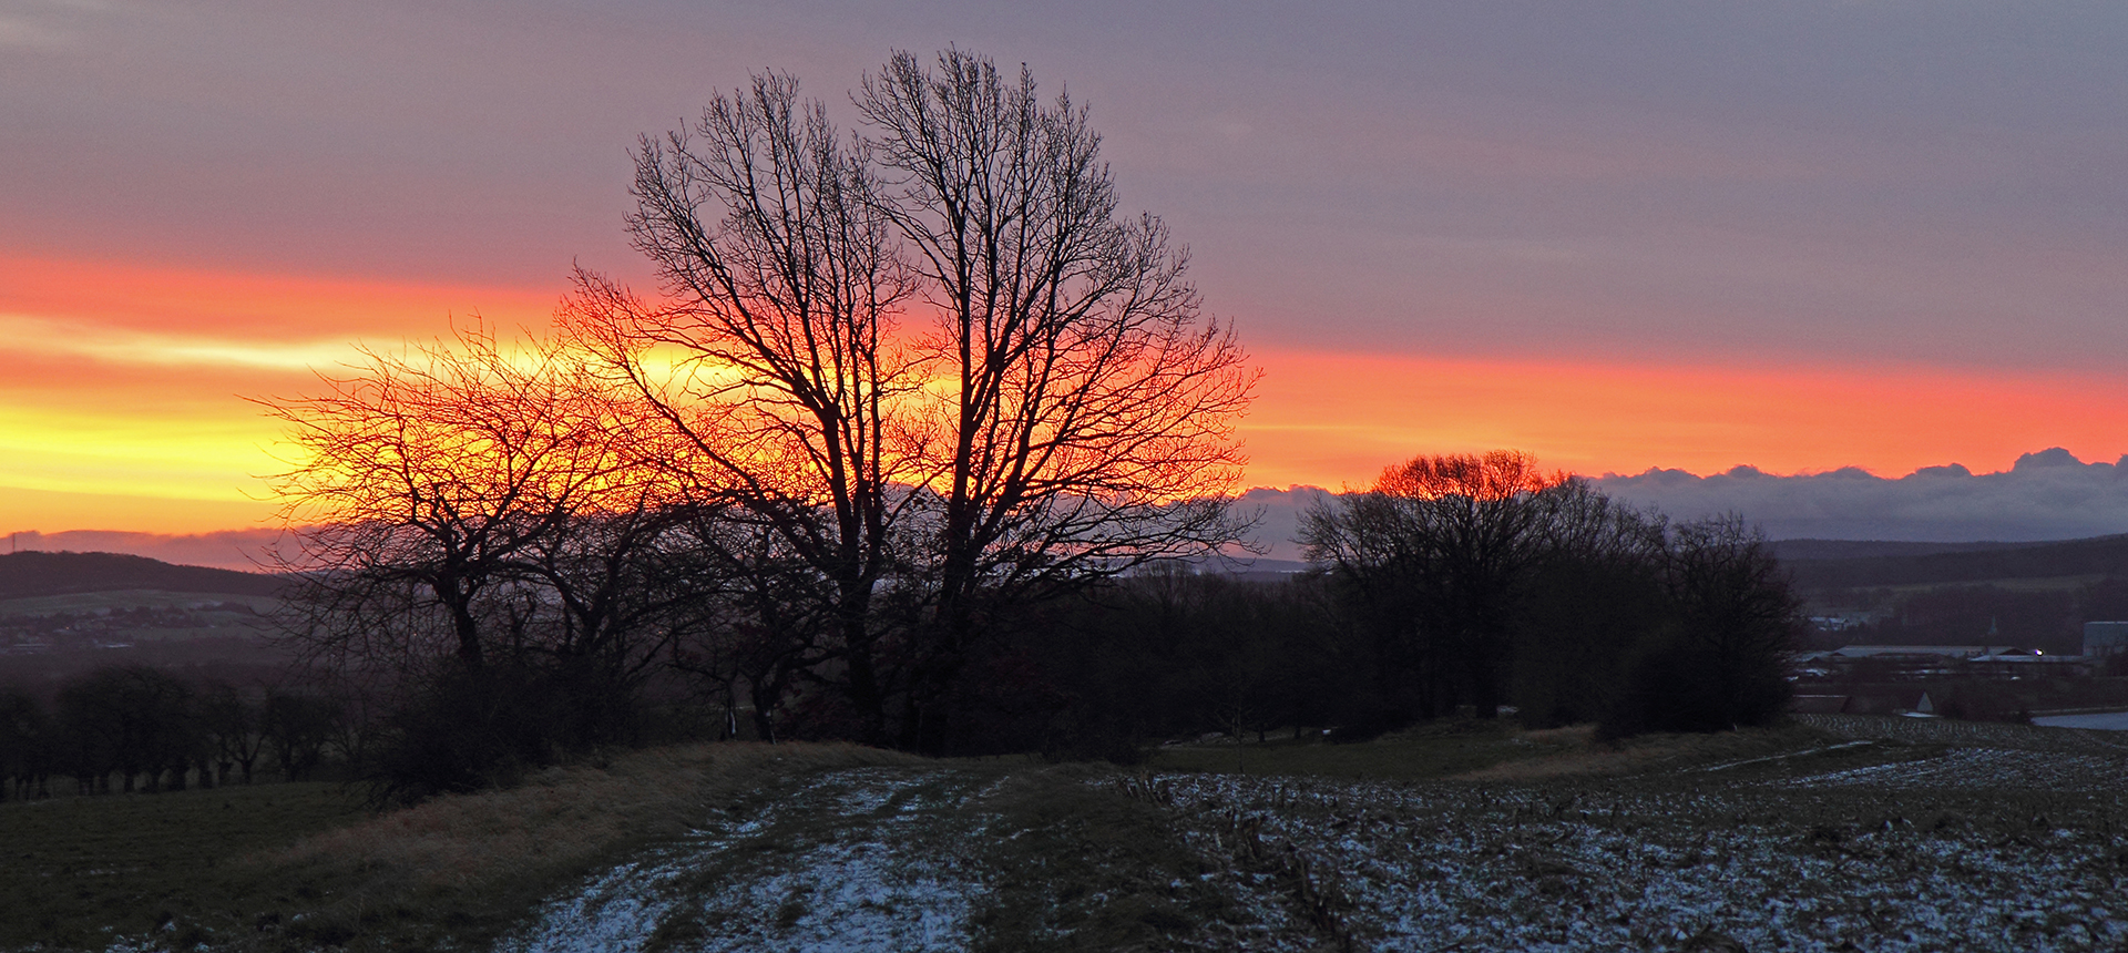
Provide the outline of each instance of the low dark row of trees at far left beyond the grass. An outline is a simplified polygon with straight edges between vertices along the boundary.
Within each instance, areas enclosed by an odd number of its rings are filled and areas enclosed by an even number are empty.
[[[192,683],[147,666],[113,666],[60,685],[47,706],[0,691],[0,800],[74,793],[181,791],[251,783],[262,772],[306,779],[340,725],[315,691]]]

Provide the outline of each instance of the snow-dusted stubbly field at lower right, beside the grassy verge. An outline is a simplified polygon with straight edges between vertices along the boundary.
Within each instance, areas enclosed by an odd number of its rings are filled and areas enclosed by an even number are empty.
[[[2047,817],[1905,815],[1894,791],[2030,776],[2119,791],[2119,764],[2034,774],[1960,751],[1822,776],[1647,789],[1164,776],[1207,851],[1298,853],[1358,949],[2090,951],[2128,942],[2115,836]],[[1824,791],[1845,791],[1847,798]],[[1985,800],[1979,800],[1981,804]],[[1253,851],[1264,851],[1256,847]],[[1241,851],[1251,853],[1251,851]]]

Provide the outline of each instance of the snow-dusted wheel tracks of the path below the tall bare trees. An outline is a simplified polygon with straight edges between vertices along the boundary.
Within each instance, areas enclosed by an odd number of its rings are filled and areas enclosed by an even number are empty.
[[[951,951],[983,896],[977,779],[858,768],[551,900],[498,953]]]

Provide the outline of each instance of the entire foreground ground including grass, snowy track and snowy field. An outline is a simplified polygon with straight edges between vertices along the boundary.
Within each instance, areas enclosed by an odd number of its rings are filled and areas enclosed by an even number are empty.
[[[1443,723],[1243,772],[724,745],[375,817],[296,785],[9,804],[0,947],[2119,949],[2122,742]]]

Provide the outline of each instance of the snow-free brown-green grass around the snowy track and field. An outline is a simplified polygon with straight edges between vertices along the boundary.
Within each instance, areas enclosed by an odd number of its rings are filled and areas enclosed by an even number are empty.
[[[1928,725],[1892,728],[1911,734]],[[1675,791],[1685,804],[1692,791],[1736,779],[1905,764],[1958,745],[2005,747],[2005,738],[1964,738],[1949,728],[1936,732],[1941,738],[1879,732],[1871,745],[1841,745],[1866,730],[1790,725],[1600,747],[1585,730],[1462,723],[1368,745],[1249,745],[1241,757],[1249,779],[1319,785],[1364,776],[1394,789],[1445,781],[1443,791],[1468,789],[1487,804],[1485,791],[1509,800],[1609,791],[1658,804]],[[2085,751],[2109,738],[2024,730],[2011,740]],[[964,787],[987,791],[985,830],[1009,834],[983,838],[990,896],[972,925],[985,949],[1219,949],[1221,938],[1238,936],[1232,930],[1260,913],[1249,904],[1236,908],[1232,891],[1200,887],[1209,876],[1253,876],[1249,883],[1275,891],[1266,898],[1298,910],[1279,930],[1319,927],[1334,938],[1345,927],[1328,913],[1317,910],[1328,925],[1307,925],[1317,915],[1307,904],[1319,902],[1309,893],[1315,889],[1309,876],[1319,874],[1279,853],[1207,853],[1207,842],[1232,851],[1245,840],[1256,845],[1256,834],[1207,827],[1217,817],[1198,808],[1177,813],[1173,798],[1143,796],[1158,772],[1230,774],[1232,757],[1234,749],[1217,745],[1168,749],[1153,772],[1124,774],[1021,759],[924,762],[838,745],[702,745],[632,753],[604,768],[553,770],[513,791],[443,798],[387,815],[366,815],[328,785],[0,804],[0,845],[15,862],[0,866],[0,910],[6,910],[0,949],[34,942],[100,949],[113,930],[143,936],[162,921],[170,925],[155,936],[181,947],[485,947],[521,923],[538,900],[681,836],[709,813],[747,817],[800,791],[809,776],[864,766],[945,770],[972,779]],[[1805,832],[1798,836],[1815,836],[1822,825],[1862,830],[1885,810],[1924,827],[1936,823],[1932,817],[1960,815],[1975,836],[1996,838],[2026,830],[2034,815],[2092,832],[2111,832],[2115,823],[2111,808],[2047,793],[1917,791],[1894,802],[1871,789],[1768,789],[1751,796],[1751,810],[1785,815],[1781,827]],[[1677,827],[1679,838],[1700,836],[1694,832],[1702,823],[1685,815],[1662,823]],[[1743,821],[1722,815],[1707,823]],[[1204,830],[1187,834],[1196,827]],[[1238,874],[1219,872],[1228,866]]]

